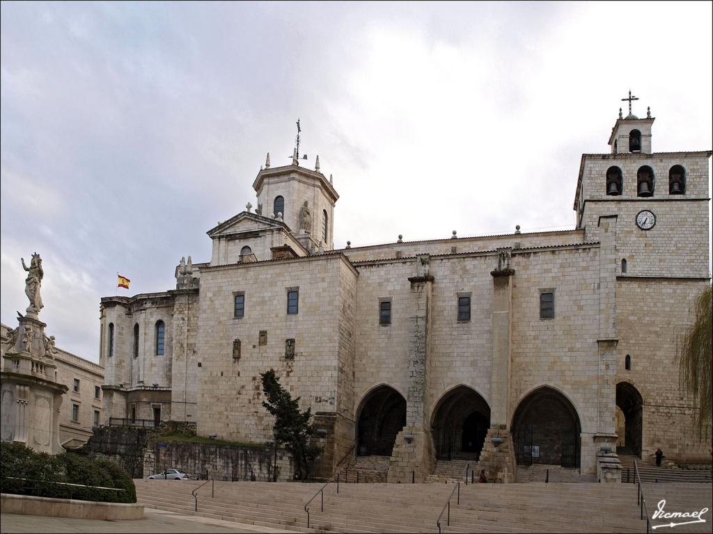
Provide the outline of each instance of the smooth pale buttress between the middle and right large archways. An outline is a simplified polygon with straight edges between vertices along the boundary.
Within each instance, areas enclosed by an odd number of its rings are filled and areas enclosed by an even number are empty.
[[[491,370],[491,427],[483,444],[478,469],[498,483],[515,482],[515,450],[509,429],[510,365],[512,341],[511,248],[498,249],[493,276],[493,364]]]

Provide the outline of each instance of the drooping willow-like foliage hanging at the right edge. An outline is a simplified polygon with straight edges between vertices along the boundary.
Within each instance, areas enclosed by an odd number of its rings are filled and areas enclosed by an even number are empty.
[[[708,284],[698,296],[696,318],[679,343],[680,378],[699,408],[696,424],[702,432],[711,423],[713,376],[711,335],[713,331],[713,292]]]

